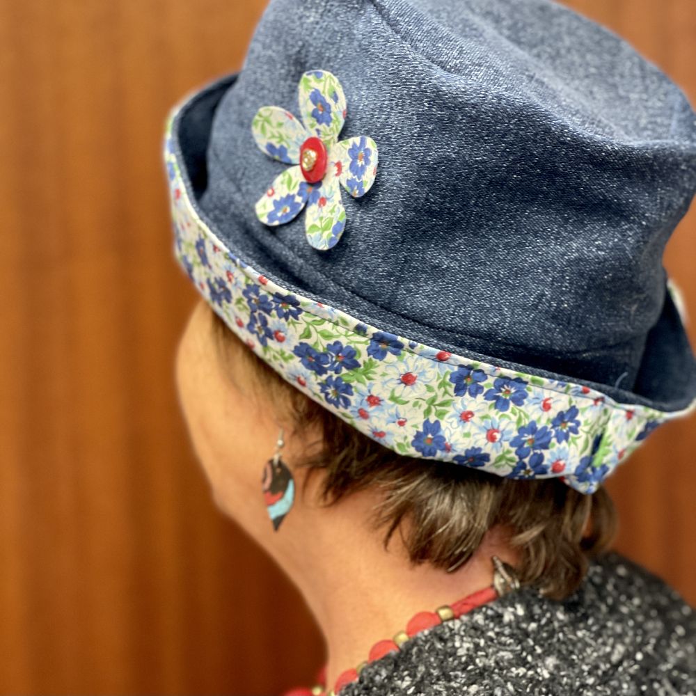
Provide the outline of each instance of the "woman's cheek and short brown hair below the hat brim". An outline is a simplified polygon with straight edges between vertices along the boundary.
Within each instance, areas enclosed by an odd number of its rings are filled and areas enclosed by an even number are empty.
[[[587,496],[557,479],[512,480],[405,457],[368,438],[280,377],[203,301],[182,340],[177,381],[219,507],[276,557],[301,553],[280,548],[260,495],[280,427],[283,458],[301,482],[297,505],[329,510],[367,496],[368,505],[355,507],[367,519],[356,523],[385,547],[398,535],[414,564],[451,571],[495,529],[519,550],[522,583],[560,598],[615,535],[603,488]]]

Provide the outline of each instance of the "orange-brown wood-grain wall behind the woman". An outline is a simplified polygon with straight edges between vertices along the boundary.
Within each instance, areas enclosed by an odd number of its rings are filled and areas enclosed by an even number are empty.
[[[693,0],[571,5],[696,99]],[[0,693],[267,695],[319,662],[299,596],[214,508],[173,386],[196,295],[164,116],[241,65],[263,6],[0,0]],[[695,228],[692,210],[667,267],[696,315]],[[695,426],[610,485],[619,548],[692,603]]]

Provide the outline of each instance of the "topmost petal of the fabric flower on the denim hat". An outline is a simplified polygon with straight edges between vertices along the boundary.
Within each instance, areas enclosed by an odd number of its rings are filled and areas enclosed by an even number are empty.
[[[298,88],[302,121],[327,144],[338,140],[346,117],[346,97],[338,78],[326,70],[303,74]]]

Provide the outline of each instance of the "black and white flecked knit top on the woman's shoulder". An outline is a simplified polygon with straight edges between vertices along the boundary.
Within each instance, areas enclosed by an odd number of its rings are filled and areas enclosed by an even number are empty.
[[[696,612],[612,552],[564,601],[522,588],[416,635],[340,696],[696,696]]]

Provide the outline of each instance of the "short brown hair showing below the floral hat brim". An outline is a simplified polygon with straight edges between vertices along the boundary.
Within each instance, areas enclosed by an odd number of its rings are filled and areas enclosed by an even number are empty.
[[[445,570],[459,567],[487,530],[502,525],[512,532],[509,543],[521,551],[516,571],[522,585],[563,599],[580,585],[590,557],[612,544],[616,512],[603,487],[585,495],[555,478],[512,480],[397,454],[280,377],[210,312],[223,366],[230,359],[241,361],[244,373],[274,404],[278,416],[292,425],[294,434],[321,434],[319,447],[294,466],[324,473],[321,496],[326,505],[379,487],[383,496],[372,520],[374,528],[385,530],[385,546],[401,528],[411,562],[429,562]],[[409,524],[402,525],[406,521]]]

